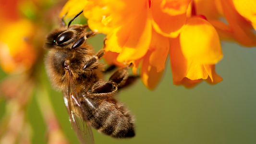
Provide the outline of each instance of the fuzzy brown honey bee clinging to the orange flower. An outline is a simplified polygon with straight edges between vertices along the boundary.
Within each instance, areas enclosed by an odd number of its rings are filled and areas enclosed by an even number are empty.
[[[72,24],[79,12],[65,25],[62,17],[60,28],[48,36],[45,48],[49,50],[45,60],[52,85],[63,92],[65,106],[73,130],[82,144],[94,144],[90,126],[98,132],[115,138],[134,137],[134,118],[113,95],[125,87],[130,65],[119,68],[103,80],[104,48],[94,55],[93,48],[86,43],[94,32],[86,32],[88,25]],[[130,79],[131,78],[131,79]]]

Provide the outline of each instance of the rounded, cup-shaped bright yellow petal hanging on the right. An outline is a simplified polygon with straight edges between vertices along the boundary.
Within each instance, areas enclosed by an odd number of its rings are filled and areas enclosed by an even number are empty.
[[[180,35],[184,56],[201,64],[215,64],[222,57],[219,36],[215,28],[198,17],[187,21]]]

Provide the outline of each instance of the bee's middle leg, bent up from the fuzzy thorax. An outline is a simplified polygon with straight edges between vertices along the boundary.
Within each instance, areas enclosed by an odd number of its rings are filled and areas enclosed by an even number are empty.
[[[95,63],[102,58],[104,55],[105,50],[100,49],[95,56],[93,56],[90,60],[85,62],[85,65],[83,67],[84,71],[92,71],[97,69],[98,67],[95,65]]]

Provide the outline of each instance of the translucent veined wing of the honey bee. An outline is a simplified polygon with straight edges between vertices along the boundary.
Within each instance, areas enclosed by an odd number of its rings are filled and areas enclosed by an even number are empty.
[[[66,91],[63,91],[64,103],[69,114],[69,120],[81,144],[94,144],[94,138],[90,124],[81,105],[78,94],[75,91],[71,73]]]

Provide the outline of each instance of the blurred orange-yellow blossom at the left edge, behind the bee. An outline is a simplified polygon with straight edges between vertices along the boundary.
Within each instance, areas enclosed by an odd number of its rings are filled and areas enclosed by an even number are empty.
[[[0,6],[0,66],[7,73],[20,73],[32,67],[36,53],[32,47],[34,24],[20,18],[17,12],[19,0],[7,1]],[[7,15],[3,14],[7,13]]]

